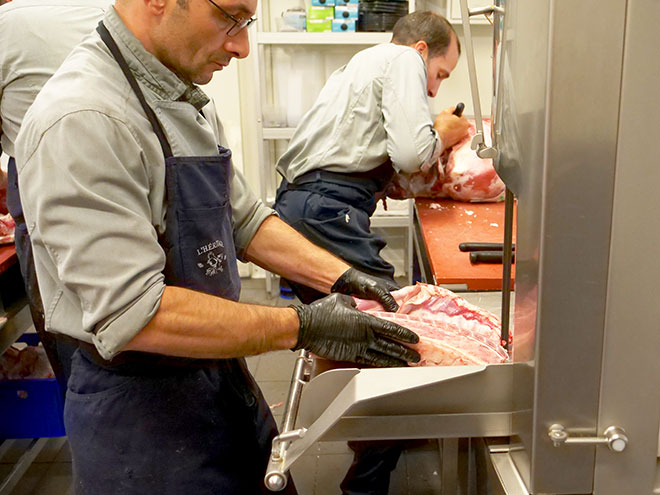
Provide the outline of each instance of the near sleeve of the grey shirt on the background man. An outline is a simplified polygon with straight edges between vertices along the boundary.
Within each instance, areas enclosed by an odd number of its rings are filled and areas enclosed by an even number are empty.
[[[442,151],[426,97],[426,67],[408,50],[392,60],[383,77],[383,119],[387,153],[400,172],[414,173]]]

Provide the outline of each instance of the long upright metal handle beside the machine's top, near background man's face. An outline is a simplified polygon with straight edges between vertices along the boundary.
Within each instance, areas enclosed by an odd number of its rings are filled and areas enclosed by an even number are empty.
[[[479,84],[477,82],[477,68],[474,62],[474,47],[472,45],[472,30],[470,28],[470,16],[489,14],[493,12],[503,13],[504,9],[491,5],[470,11],[468,9],[467,0],[460,0],[461,4],[461,18],[463,19],[463,32],[465,39],[465,52],[468,62],[468,74],[470,76],[470,88],[472,92],[472,105],[474,107],[474,120],[477,129],[474,137],[472,138],[471,147],[477,151],[477,156],[480,158],[495,158],[497,157],[497,150],[492,146],[486,146],[484,140],[484,125],[483,117],[481,114],[481,100],[479,99]]]

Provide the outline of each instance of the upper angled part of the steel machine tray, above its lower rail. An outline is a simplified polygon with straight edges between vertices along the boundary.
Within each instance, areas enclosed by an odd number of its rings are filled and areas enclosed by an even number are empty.
[[[336,419],[510,412],[511,373],[510,364],[326,371],[303,389],[296,427],[333,408]]]

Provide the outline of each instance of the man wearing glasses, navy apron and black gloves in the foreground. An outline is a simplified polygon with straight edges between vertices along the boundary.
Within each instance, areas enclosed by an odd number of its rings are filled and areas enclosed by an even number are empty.
[[[266,493],[277,427],[246,356],[419,360],[417,335],[348,295],[394,311],[387,284],[307,241],[233,167],[226,110],[198,85],[248,55],[256,1],[116,0],[16,140],[46,330],[77,346],[78,495]],[[240,303],[237,260],[330,295]]]

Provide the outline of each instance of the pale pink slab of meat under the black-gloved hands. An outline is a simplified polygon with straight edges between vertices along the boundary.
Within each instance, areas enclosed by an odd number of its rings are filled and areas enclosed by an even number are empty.
[[[442,287],[417,284],[392,293],[396,313],[375,301],[358,300],[358,309],[417,333],[417,366],[501,363],[508,359],[500,344],[499,318]]]

